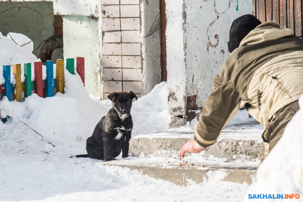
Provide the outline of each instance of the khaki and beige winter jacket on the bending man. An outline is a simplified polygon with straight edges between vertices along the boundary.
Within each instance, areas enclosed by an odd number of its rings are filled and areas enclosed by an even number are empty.
[[[275,112],[303,93],[303,41],[265,22],[243,38],[214,79],[199,122],[195,140],[204,147],[214,144],[237,110],[268,126]]]

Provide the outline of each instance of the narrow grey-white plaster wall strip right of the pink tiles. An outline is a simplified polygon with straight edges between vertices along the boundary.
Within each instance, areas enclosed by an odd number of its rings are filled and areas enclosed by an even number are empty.
[[[142,43],[142,95],[161,82],[161,44],[159,0],[140,3]],[[157,18],[158,17],[158,18]]]

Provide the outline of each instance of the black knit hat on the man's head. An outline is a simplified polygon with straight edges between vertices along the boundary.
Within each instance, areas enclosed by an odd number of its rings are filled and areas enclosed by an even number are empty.
[[[239,47],[242,39],[261,22],[251,14],[242,15],[232,22],[229,30],[228,51],[231,53]]]

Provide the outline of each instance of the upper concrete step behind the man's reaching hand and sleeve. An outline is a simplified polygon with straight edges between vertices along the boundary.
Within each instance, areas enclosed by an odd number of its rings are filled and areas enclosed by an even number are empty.
[[[199,155],[226,158],[227,161],[256,159],[264,153],[262,133],[263,126],[255,122],[225,127],[218,141]],[[137,135],[130,140],[129,152],[134,157],[176,158],[180,148],[191,138],[192,131]]]

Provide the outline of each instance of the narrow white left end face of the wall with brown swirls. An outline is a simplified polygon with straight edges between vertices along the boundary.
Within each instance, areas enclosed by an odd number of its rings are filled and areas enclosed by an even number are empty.
[[[174,116],[185,115],[186,64],[183,44],[183,0],[167,0],[166,3],[166,61],[169,112]]]

